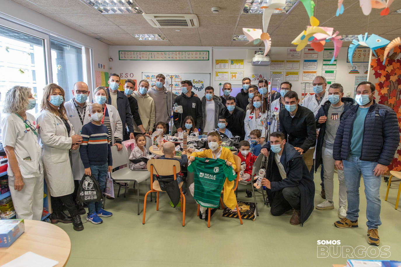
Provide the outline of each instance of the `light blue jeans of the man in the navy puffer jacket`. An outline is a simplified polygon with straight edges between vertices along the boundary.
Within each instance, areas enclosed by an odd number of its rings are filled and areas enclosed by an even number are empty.
[[[351,221],[358,219],[359,186],[362,173],[366,196],[366,225],[369,229],[377,229],[380,221],[380,183],[381,176],[373,174],[377,162],[361,161],[358,157],[348,157],[342,161],[344,165],[345,186],[347,187],[348,210],[346,218]]]

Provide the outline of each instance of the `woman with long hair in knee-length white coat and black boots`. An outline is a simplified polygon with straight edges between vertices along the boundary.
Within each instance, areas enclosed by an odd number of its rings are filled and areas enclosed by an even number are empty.
[[[74,230],[83,229],[81,217],[75,207],[72,193],[74,180],[69,152],[77,149],[82,137],[75,135],[64,108],[64,90],[51,83],[43,88],[41,112],[36,118],[39,127],[39,144],[46,183],[50,190],[53,213],[51,223],[73,223]],[[63,212],[63,205],[71,217]]]

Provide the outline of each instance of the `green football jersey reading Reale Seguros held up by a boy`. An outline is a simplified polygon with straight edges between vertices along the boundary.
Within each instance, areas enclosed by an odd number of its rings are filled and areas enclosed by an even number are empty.
[[[237,178],[233,167],[227,166],[223,159],[195,158],[188,171],[194,173],[194,199],[208,208],[219,207],[225,178],[229,181]]]

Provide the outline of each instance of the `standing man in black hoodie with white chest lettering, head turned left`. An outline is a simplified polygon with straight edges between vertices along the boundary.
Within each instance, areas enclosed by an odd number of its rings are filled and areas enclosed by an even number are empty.
[[[173,113],[174,126],[176,126],[178,132],[182,132],[182,122],[186,116],[192,116],[194,119],[194,132],[198,132],[198,129],[203,126],[202,102],[201,99],[194,96],[194,92],[191,92],[191,89],[192,82],[190,80],[181,81],[182,93],[174,100],[174,105],[182,106],[182,113]]]

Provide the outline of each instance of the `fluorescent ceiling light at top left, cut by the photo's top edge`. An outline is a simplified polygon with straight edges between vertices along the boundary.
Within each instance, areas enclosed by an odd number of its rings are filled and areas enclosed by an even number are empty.
[[[81,0],[101,14],[142,14],[132,0]]]

